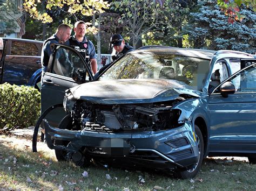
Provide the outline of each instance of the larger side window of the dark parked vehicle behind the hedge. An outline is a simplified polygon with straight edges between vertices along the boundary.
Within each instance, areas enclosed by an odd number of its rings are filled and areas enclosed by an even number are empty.
[[[38,48],[35,43],[11,41],[11,54],[20,56],[37,56]]]

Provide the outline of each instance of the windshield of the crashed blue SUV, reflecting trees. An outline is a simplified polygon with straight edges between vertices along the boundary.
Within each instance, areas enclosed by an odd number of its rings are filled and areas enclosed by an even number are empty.
[[[126,54],[108,69],[99,80],[167,79],[177,80],[201,90],[210,60],[168,52]]]

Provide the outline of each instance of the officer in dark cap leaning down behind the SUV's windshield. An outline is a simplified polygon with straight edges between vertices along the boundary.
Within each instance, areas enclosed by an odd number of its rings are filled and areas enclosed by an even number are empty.
[[[116,55],[112,56],[112,60],[117,60],[120,56],[134,51],[134,48],[130,46],[128,43],[125,43],[121,34],[114,34],[111,39],[111,44],[114,47],[114,50],[117,52]]]

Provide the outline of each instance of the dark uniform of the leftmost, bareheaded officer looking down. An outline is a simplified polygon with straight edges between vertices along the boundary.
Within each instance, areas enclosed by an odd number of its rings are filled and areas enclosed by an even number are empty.
[[[42,72],[46,72],[47,70],[48,62],[52,53],[51,44],[59,44],[59,39],[55,34],[44,41],[41,53]]]

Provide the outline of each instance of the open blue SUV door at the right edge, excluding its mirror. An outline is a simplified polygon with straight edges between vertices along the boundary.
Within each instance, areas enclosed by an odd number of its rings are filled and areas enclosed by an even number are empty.
[[[221,82],[210,95],[210,152],[255,153],[256,151],[256,59],[243,60],[244,67]],[[242,65],[241,65],[242,66]],[[230,81],[235,93],[220,93]]]

